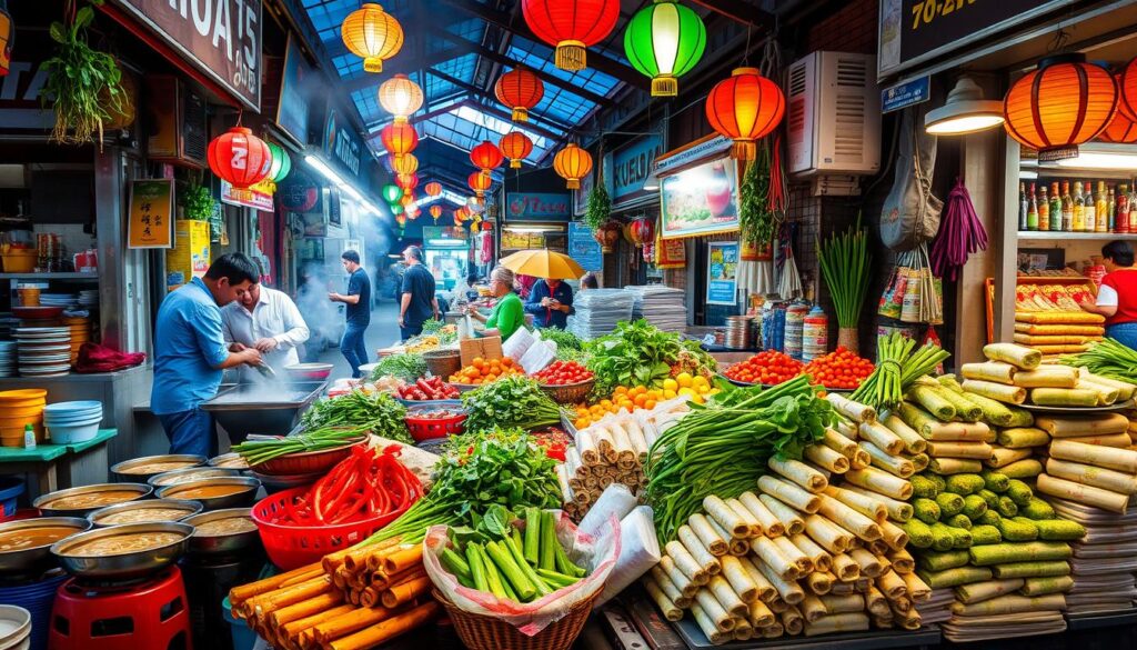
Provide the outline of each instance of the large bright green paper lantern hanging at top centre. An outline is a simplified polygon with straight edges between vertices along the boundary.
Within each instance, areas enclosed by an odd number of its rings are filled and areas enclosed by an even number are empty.
[[[703,18],[675,0],[655,0],[640,9],[624,32],[624,52],[652,77],[652,97],[679,94],[679,77],[699,63],[706,44]]]

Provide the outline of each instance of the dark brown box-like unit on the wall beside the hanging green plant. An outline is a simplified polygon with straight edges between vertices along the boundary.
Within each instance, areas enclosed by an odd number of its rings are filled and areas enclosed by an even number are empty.
[[[205,167],[209,147],[205,98],[168,75],[147,76],[146,90],[148,157]]]

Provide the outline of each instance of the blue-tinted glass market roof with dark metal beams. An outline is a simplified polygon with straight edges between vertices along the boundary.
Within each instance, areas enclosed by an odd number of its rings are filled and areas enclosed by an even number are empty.
[[[616,1],[616,0],[606,0]],[[364,71],[364,61],[348,51],[341,26],[360,0],[294,0],[302,8],[304,31],[319,40],[323,64],[335,71],[340,92],[359,112],[368,142],[388,165],[380,131],[393,117],[377,99],[381,83],[396,74],[413,80],[424,101],[410,117],[420,135],[414,150],[418,175],[437,180],[456,195],[468,195],[470,151],[483,140],[497,143],[520,130],[533,142],[526,167],[548,166],[553,156],[598,112],[622,100],[625,89],[647,93],[650,80],[624,56],[628,20],[652,0],[622,0],[620,19],[599,44],[588,48],[588,67],[566,72],[554,65],[553,48],[529,28],[520,0],[380,0],[383,10],[402,27],[399,52],[383,61],[379,74]],[[290,2],[291,3],[291,2]],[[760,0],[686,0],[711,25],[712,19],[762,27],[772,23]],[[293,5],[293,6],[296,6]],[[310,27],[310,31],[307,28]],[[511,122],[511,112],[493,92],[503,73],[518,65],[537,74],[545,94],[530,110],[529,122]],[[501,179],[501,171],[496,172]]]

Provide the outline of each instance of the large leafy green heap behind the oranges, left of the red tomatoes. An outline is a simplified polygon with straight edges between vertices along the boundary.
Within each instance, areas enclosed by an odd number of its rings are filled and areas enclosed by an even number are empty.
[[[592,353],[588,369],[596,375],[596,394],[603,397],[616,386],[655,388],[684,371],[711,379],[717,367],[698,343],[684,342],[642,319],[616,323],[616,331],[590,342],[586,349]]]

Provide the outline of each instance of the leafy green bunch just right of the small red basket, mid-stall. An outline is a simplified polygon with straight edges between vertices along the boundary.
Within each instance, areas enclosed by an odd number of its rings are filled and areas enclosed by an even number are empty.
[[[522,376],[509,376],[466,393],[462,403],[467,410],[466,430],[474,434],[495,427],[525,430],[561,422],[561,406],[537,385]]]

